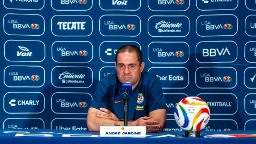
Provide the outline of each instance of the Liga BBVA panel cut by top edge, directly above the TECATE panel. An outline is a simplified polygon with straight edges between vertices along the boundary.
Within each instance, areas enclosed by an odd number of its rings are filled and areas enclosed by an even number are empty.
[[[55,11],[87,11],[92,8],[92,0],[51,0]]]

